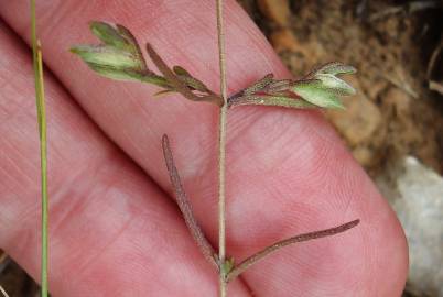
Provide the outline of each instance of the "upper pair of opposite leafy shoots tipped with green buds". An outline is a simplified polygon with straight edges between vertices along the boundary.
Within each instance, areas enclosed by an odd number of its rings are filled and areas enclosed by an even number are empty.
[[[156,85],[163,90],[156,95],[180,92],[192,101],[223,105],[220,96],[193,77],[181,66],[172,69],[163,62],[152,45],[147,51],[162,75],[148,68],[139,44],[132,33],[120,24],[91,22],[90,30],[101,43],[77,45],[71,51],[101,76],[120,80],[137,80]],[[300,80],[273,79],[269,74],[262,79],[228,99],[229,107],[258,105],[287,108],[343,108],[341,96],[354,95],[355,90],[337,76],[353,74],[353,66],[338,62],[328,63],[311,72]]]

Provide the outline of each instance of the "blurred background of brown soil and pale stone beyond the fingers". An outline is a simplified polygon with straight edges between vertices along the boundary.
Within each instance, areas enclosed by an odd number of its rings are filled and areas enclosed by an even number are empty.
[[[331,61],[356,66],[346,79],[358,95],[325,116],[406,230],[403,296],[443,297],[443,1],[238,1],[295,77]],[[39,296],[1,251],[0,285]]]

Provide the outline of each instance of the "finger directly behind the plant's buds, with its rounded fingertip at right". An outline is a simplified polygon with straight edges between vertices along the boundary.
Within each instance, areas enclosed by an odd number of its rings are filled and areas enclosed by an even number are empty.
[[[23,3],[6,3],[1,9],[18,32],[25,32],[25,23],[13,16],[14,11],[24,10]],[[214,4],[136,0],[96,3],[91,7],[89,1],[63,1],[40,7],[41,15],[45,14],[41,25],[50,53],[46,62],[94,120],[164,189],[170,186],[166,175],[159,170],[161,151],[156,141],[162,133],[170,134],[197,218],[216,241],[216,110],[179,97],[150,100],[152,88],[98,78],[65,50],[79,40],[91,40],[86,37],[89,20],[118,21],[134,31],[139,40],[149,40],[166,62],[184,66],[217,89]],[[226,23],[231,91],[269,72],[287,74],[234,1],[228,2]],[[399,295],[406,274],[401,228],[317,114],[238,109],[229,114],[228,131],[228,251],[236,258],[294,233],[355,218],[363,221],[339,238],[290,248],[258,264],[244,275],[252,289],[263,296],[315,296],[326,290],[337,295],[338,288],[344,288],[341,296],[354,292],[364,292],[363,296]],[[392,255],[390,262],[385,261]],[[380,285],[374,286],[372,282]]]

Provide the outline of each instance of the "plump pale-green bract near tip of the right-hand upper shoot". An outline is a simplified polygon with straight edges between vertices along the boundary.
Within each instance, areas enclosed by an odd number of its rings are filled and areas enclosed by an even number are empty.
[[[317,107],[344,109],[337,92],[326,87],[322,80],[300,80],[293,84],[291,90],[296,96]]]

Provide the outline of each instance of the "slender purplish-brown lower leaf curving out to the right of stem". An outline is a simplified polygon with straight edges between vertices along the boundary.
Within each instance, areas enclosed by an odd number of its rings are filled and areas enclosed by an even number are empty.
[[[240,275],[242,272],[245,272],[247,268],[249,268],[250,266],[252,266],[260,260],[264,258],[267,255],[282,249],[283,246],[303,242],[303,241],[315,240],[315,239],[321,239],[321,238],[331,237],[331,235],[334,235],[337,233],[342,233],[342,232],[345,232],[346,230],[349,230],[350,228],[356,227],[359,222],[360,222],[360,220],[354,220],[354,221],[350,221],[345,224],[334,227],[331,229],[299,234],[293,238],[289,238],[289,239],[279,241],[268,248],[264,248],[260,252],[251,255],[250,257],[246,258],[245,261],[242,261],[241,263],[236,265],[228,274],[227,279],[228,279],[228,282],[233,280],[238,275]]]

